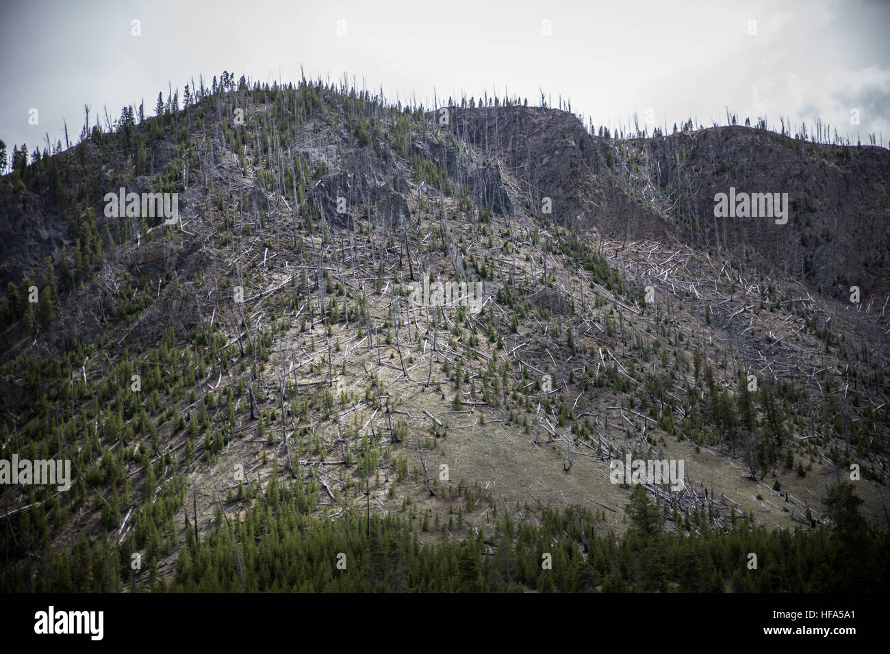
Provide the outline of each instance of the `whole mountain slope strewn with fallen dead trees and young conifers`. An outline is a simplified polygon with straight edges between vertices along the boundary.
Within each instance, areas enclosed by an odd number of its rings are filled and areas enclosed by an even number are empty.
[[[0,459],[74,472],[4,486],[7,590],[880,586],[890,152],[473,104],[224,73],[18,157]]]

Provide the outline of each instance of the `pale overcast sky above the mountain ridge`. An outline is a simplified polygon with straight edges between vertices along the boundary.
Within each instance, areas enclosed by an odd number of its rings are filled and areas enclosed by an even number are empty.
[[[888,2],[546,0],[0,0],[0,139],[77,139],[84,103],[108,108],[226,69],[260,80],[357,77],[392,100],[483,91],[554,105],[595,125],[637,112],[668,128],[786,117],[890,139]],[[134,36],[139,20],[140,36]],[[37,109],[37,125],[30,125]],[[851,124],[859,110],[859,125]],[[91,124],[92,124],[91,116]],[[33,118],[32,118],[33,120]],[[104,121],[103,121],[104,122]],[[653,125],[654,126],[654,125]]]

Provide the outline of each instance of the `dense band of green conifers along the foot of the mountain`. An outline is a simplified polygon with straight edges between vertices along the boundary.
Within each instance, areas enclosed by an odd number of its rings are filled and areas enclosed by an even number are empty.
[[[7,570],[4,590],[119,591],[129,580],[129,587],[155,592],[861,593],[885,590],[890,573],[890,542],[867,527],[848,482],[826,500],[837,525],[831,532],[768,531],[747,516],[714,529],[704,512],[659,513],[637,486],[623,537],[597,529],[589,510],[566,507],[546,509],[539,524],[508,512],[490,532],[479,529],[463,541],[449,538],[444,525],[430,541],[413,508],[368,523],[358,513],[319,520],[308,511],[311,494],[273,477],[243,520],[219,505],[203,540],[187,522],[168,580],[152,571],[131,577],[132,544],[82,539],[38,569],[22,562]],[[175,505],[156,510],[162,524]],[[163,548],[154,524],[142,528],[142,543]]]

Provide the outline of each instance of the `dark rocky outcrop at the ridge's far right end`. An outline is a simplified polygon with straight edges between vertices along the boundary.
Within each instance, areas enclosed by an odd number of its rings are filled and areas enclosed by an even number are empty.
[[[648,139],[653,181],[678,200],[672,218],[702,246],[747,250],[822,291],[863,295],[890,279],[890,151],[794,141],[740,125]],[[788,222],[714,215],[717,193],[788,193]]]

